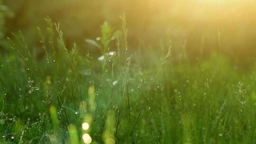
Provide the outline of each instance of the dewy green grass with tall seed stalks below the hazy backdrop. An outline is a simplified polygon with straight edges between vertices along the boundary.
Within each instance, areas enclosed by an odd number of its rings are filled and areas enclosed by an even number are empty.
[[[235,69],[220,54],[177,60],[169,45],[131,51],[121,19],[120,32],[104,23],[101,38],[86,40],[100,55],[67,48],[49,18],[38,28],[42,49],[22,33],[8,38],[0,54],[1,144],[256,143],[254,69]]]

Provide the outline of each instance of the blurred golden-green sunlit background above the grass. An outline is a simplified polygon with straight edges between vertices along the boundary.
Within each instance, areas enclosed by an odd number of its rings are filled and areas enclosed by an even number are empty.
[[[155,49],[172,45],[174,56],[184,51],[192,61],[212,53],[228,55],[247,67],[256,54],[255,0],[4,0],[1,37],[20,30],[28,44],[37,48],[37,27],[46,27],[49,16],[60,22],[65,42],[75,42],[86,52],[86,38],[101,35],[108,21],[121,29],[119,16],[125,13],[128,42],[136,50],[139,41]],[[97,52],[95,52],[97,53]]]

